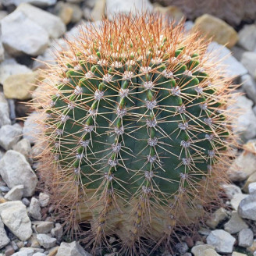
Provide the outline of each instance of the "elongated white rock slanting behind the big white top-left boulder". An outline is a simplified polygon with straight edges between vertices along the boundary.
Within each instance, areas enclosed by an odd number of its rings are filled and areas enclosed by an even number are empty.
[[[16,11],[23,12],[30,20],[37,23],[38,26],[47,31],[49,37],[58,38],[66,32],[66,26],[62,23],[62,20],[50,12],[45,12],[27,3],[19,5]]]

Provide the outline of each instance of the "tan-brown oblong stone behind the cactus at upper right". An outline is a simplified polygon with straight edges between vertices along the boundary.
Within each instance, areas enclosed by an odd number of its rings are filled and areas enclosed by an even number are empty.
[[[233,27],[209,14],[198,17],[195,20],[194,29],[200,30],[208,38],[212,37],[213,41],[219,44],[226,44],[228,48],[233,47],[238,41],[238,34]]]

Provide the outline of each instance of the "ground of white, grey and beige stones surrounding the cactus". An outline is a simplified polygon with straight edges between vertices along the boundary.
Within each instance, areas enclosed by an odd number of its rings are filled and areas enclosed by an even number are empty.
[[[173,6],[145,1],[122,0],[2,0],[0,4],[0,256],[85,256],[76,241],[66,243],[62,225],[47,211],[49,195],[37,191],[36,163],[33,155],[36,130],[33,113],[23,123],[16,117],[27,116],[23,104],[33,95],[37,69],[46,68],[42,62],[54,62],[54,51],[65,45],[62,37],[72,38],[80,23],[98,20],[106,12],[112,19],[114,12],[148,8],[179,20],[183,12]],[[256,8],[256,6],[255,6]],[[202,33],[214,37],[208,51],[217,49],[223,75],[233,76],[244,92],[233,105],[243,108],[236,123],[243,146],[235,149],[238,157],[229,169],[233,182],[223,185],[228,201],[198,229],[193,237],[180,237],[175,255],[218,256],[256,255],[256,25],[255,20],[233,28],[214,16],[202,15],[187,20],[186,30],[197,26]],[[209,30],[211,26],[211,30]],[[224,44],[226,46],[224,46]],[[231,55],[231,54],[232,55]],[[34,57],[36,60],[31,59]],[[13,161],[15,159],[15,161]],[[116,255],[115,248],[113,253]],[[107,255],[107,254],[106,254]],[[174,256],[168,251],[158,256]]]

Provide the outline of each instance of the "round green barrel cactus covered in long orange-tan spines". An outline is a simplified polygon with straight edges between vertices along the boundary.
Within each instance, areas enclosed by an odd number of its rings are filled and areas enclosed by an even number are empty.
[[[157,15],[117,16],[67,42],[37,95],[38,172],[56,218],[95,253],[171,246],[219,200],[234,90],[208,42]]]

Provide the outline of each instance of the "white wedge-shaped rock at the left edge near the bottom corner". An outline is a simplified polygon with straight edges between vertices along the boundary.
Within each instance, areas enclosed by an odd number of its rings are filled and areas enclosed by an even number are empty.
[[[26,241],[32,235],[31,222],[26,206],[21,201],[9,201],[0,204],[2,222],[20,240]]]

